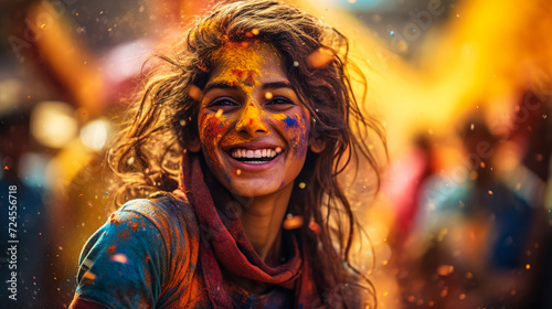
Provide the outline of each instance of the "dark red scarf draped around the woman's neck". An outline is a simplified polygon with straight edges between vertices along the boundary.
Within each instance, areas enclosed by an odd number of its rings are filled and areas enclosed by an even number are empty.
[[[203,173],[202,164],[204,163],[201,162],[200,156],[184,153],[182,177],[179,189],[174,193],[183,195],[198,216],[201,235],[201,269],[213,307],[233,308],[231,296],[222,288],[222,265],[230,273],[244,278],[279,285],[288,289],[294,288],[296,306],[310,308],[318,294],[306,255],[300,253],[295,236],[291,257],[277,267],[267,266],[245,236],[227,190],[206,168]],[[223,223],[221,216],[225,219],[226,224]]]

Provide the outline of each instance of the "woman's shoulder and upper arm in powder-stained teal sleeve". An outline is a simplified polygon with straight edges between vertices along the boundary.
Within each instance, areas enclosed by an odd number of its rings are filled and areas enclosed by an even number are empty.
[[[185,288],[193,276],[195,222],[190,205],[169,193],[127,202],[85,244],[77,295],[113,308],[153,308],[167,287]]]

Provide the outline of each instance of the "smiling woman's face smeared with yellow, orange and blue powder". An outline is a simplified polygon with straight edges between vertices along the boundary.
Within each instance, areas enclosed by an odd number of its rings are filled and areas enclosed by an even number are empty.
[[[199,114],[209,168],[242,196],[290,190],[307,156],[310,116],[277,52],[263,43],[229,43],[216,56]]]

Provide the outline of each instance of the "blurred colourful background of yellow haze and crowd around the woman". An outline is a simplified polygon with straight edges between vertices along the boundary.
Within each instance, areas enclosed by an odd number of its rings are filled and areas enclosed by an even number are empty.
[[[214,2],[0,0],[2,251],[9,185],[20,241],[18,302],[2,288],[1,308],[68,307],[112,211],[104,156],[134,76]],[[550,4],[299,2],[349,36],[388,132],[378,196],[349,189],[379,308],[552,308]]]

